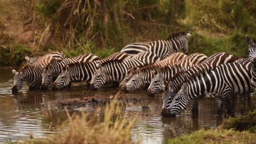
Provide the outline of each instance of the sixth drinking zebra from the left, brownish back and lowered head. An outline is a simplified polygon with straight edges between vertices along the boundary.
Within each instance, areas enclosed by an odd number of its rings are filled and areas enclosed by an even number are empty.
[[[207,56],[201,53],[193,53],[182,61],[177,62],[176,64],[165,65],[158,69],[153,79],[150,81],[150,85],[148,87],[148,95],[154,96],[155,94],[161,91],[161,85],[164,85],[171,77],[178,73],[178,71],[185,71],[189,69],[189,65],[202,63],[207,59]]]

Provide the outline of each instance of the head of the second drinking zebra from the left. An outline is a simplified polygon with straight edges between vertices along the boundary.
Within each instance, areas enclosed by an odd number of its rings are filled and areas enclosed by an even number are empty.
[[[42,85],[40,88],[47,88],[51,82],[53,82],[53,64],[49,64],[48,67],[44,68],[42,73]]]

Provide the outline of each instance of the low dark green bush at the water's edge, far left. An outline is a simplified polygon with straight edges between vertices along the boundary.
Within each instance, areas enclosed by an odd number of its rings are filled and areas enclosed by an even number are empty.
[[[20,65],[24,57],[31,54],[31,50],[25,45],[16,44],[8,47],[0,47],[0,65]]]

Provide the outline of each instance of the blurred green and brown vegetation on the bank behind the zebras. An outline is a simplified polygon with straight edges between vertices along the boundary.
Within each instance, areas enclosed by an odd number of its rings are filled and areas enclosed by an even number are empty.
[[[20,65],[34,52],[106,57],[136,41],[192,35],[189,52],[247,55],[256,33],[249,0],[1,0],[0,65]]]

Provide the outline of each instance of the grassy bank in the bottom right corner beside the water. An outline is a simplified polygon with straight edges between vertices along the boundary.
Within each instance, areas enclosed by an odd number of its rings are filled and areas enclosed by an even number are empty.
[[[229,118],[217,129],[201,129],[166,143],[256,143],[256,110],[246,116]]]

